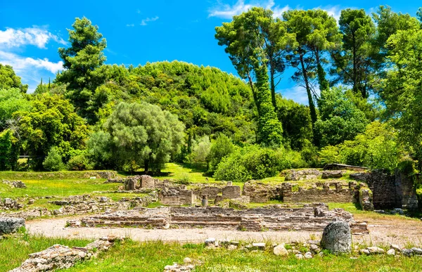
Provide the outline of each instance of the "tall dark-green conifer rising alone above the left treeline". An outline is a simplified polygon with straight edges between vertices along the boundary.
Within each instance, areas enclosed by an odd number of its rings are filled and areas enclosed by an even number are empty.
[[[82,117],[93,119],[93,113],[87,111],[88,103],[98,86],[93,80],[93,72],[106,61],[103,54],[106,39],[102,38],[98,27],[85,17],[76,18],[72,27],[72,30],[68,30],[70,47],[58,48],[65,70],[58,74],[56,82],[68,83],[66,96],[75,105],[77,112]]]

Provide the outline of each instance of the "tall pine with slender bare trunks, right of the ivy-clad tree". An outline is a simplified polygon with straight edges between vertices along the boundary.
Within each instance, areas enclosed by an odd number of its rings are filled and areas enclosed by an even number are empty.
[[[340,43],[340,35],[335,19],[320,9],[301,11],[291,10],[283,13],[287,30],[294,33],[298,48],[290,55],[290,64],[296,68],[292,79],[305,87],[308,96],[312,127],[317,119],[314,98],[316,90],[313,79],[318,79],[319,89],[329,88],[324,71],[324,53],[333,50]],[[314,141],[317,142],[317,138]]]

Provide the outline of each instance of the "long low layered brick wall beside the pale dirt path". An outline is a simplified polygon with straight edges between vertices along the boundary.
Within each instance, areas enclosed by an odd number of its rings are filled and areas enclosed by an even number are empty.
[[[324,203],[302,207],[264,207],[231,209],[222,207],[159,207],[136,208],[87,216],[70,220],[71,227],[153,227],[189,228],[214,227],[245,231],[322,231],[331,221],[347,221],[353,233],[366,233],[366,223],[354,221],[353,215],[343,209],[329,210]]]

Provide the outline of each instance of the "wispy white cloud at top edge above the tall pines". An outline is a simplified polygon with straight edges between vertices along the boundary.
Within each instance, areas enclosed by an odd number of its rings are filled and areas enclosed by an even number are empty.
[[[267,1],[252,1],[245,4],[244,0],[238,0],[236,4],[230,6],[228,4],[222,4],[219,2],[217,6],[210,8],[208,17],[218,17],[224,19],[231,19],[234,15],[239,15],[245,11],[248,11],[254,6],[261,6],[263,8],[271,9],[274,12],[274,17],[281,17],[284,11],[288,11],[289,6],[276,6],[274,0]]]

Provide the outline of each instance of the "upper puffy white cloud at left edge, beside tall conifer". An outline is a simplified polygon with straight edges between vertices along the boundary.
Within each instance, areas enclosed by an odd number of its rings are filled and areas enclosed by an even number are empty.
[[[39,27],[29,27],[19,30],[6,28],[4,31],[0,30],[0,46],[5,45],[9,48],[27,44],[37,46],[38,48],[46,48],[46,44],[50,40],[56,41],[59,44],[66,44],[66,41],[62,38]]]

